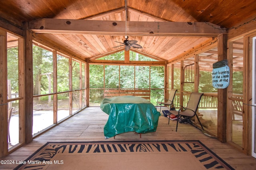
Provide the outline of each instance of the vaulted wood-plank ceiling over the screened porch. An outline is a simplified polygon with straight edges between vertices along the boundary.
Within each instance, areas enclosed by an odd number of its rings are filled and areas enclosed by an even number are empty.
[[[22,22],[34,23],[42,18],[68,20],[125,21],[125,0],[4,0],[0,1],[0,19],[22,28]],[[4,7],[4,8],[3,8]],[[256,17],[255,0],[127,0],[127,22],[205,22],[213,29],[229,30],[249,22]],[[160,24],[159,24],[160,25]],[[79,26],[79,25],[77,25]],[[87,25],[88,26],[88,25]],[[127,26],[128,27],[128,26]],[[202,29],[203,27],[199,27]],[[38,43],[46,40],[60,52],[79,59],[97,59],[118,51],[124,47],[118,42],[124,41],[124,29],[120,33],[75,33],[55,32],[36,33]],[[147,30],[147,24],[140,29]],[[173,28],[170,27],[170,30]],[[38,29],[39,30],[39,29]],[[216,35],[206,34],[145,34],[130,33],[129,40],[136,40],[142,49],[131,49],[159,61],[173,62],[186,56],[190,51],[209,43],[216,43]],[[9,47],[14,45],[9,36]],[[216,43],[217,46],[217,43]],[[215,46],[215,47],[216,47]],[[116,47],[116,48],[114,48]],[[205,68],[217,61],[217,49],[200,53],[200,62]],[[239,62],[243,51],[238,41],[234,45],[234,58]],[[54,48],[53,48],[54,49]],[[191,59],[187,59],[190,61]],[[239,64],[238,64],[239,65]],[[240,67],[240,66],[238,66]]]

